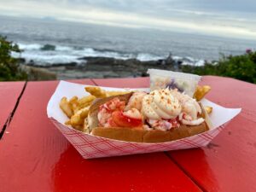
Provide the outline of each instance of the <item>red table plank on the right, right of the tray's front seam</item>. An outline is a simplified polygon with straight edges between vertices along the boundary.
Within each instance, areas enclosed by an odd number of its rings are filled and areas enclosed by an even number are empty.
[[[256,85],[218,77],[205,77],[201,84],[212,86],[207,96],[212,102],[242,112],[207,148],[169,154],[206,191],[256,191]]]

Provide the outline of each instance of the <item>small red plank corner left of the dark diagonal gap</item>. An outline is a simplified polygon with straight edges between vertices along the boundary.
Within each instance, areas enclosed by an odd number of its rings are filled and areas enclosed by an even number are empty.
[[[15,109],[25,82],[0,82],[0,133],[10,114]]]

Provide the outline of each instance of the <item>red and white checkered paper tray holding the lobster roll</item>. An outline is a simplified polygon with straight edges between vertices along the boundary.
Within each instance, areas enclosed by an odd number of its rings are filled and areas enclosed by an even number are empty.
[[[64,125],[64,122],[67,120],[67,116],[62,113],[61,108],[59,108],[59,102],[61,101],[62,96],[67,96],[67,98],[71,98],[72,96],[85,96],[87,93],[84,91],[84,86],[86,85],[61,81],[56,88],[54,95],[51,96],[49,100],[47,113],[53,124],[85,159],[203,147],[210,143],[213,137],[216,137],[218,133],[224,129],[224,125],[226,125],[230,119],[233,119],[241,112],[241,108],[223,108],[213,102],[203,99],[201,102],[204,105],[213,107],[213,111],[209,115],[209,119],[212,121],[212,127],[209,131],[193,137],[186,137],[166,143],[122,142],[108,138],[95,137],[81,131],[76,131],[67,125]],[[107,87],[104,87],[103,89],[124,90]],[[145,88],[137,90],[149,89]]]

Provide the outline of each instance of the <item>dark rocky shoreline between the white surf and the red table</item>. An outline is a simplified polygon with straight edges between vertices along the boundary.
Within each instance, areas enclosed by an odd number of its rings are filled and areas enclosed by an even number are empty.
[[[173,60],[168,56],[164,60],[138,61],[137,59],[121,60],[109,57],[82,57],[80,63],[57,63],[47,66],[38,65],[33,61],[26,63],[20,59],[29,80],[51,79],[107,79],[147,76],[148,68],[180,71],[182,61]]]

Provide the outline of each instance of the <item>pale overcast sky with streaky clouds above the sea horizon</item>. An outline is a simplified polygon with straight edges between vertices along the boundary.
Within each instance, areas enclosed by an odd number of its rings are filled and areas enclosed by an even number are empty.
[[[256,0],[0,0],[0,15],[256,39]]]

